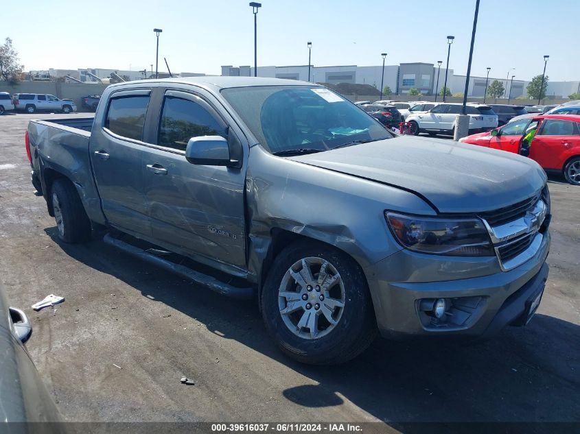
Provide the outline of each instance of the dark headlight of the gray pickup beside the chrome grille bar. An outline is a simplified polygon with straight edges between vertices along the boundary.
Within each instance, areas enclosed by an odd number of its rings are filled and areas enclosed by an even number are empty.
[[[388,226],[405,248],[451,256],[494,256],[480,219],[440,219],[385,211]]]

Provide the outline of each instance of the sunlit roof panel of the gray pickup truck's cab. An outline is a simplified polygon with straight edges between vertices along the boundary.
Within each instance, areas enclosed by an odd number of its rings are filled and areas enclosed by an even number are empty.
[[[232,87],[249,87],[249,86],[318,86],[314,83],[301,82],[299,80],[286,80],[283,78],[268,77],[231,77],[221,75],[202,75],[200,77],[173,77],[152,80],[136,80],[112,84],[111,86],[131,84],[151,84],[151,83],[184,83],[194,84],[200,87],[211,87],[214,89],[232,88]]]

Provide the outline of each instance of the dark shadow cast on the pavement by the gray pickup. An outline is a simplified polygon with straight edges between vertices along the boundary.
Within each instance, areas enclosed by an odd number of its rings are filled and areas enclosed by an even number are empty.
[[[378,339],[344,365],[302,365],[268,338],[255,301],[196,288],[102,241],[67,245],[58,241],[56,228],[46,232],[77,261],[312,379],[316,385],[281,391],[303,407],[333,407],[348,400],[405,433],[439,432],[424,422],[580,420],[580,326],[571,322],[537,314],[526,328],[507,328],[490,341],[469,344]],[[452,425],[439,428],[460,431]]]

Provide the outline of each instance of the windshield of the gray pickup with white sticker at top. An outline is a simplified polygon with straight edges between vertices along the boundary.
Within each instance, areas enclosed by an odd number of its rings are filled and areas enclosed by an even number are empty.
[[[393,137],[369,114],[321,87],[228,88],[222,95],[272,154],[320,152]]]

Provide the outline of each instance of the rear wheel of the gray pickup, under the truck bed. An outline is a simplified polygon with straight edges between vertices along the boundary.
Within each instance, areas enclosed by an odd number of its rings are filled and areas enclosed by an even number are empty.
[[[91,221],[73,184],[66,179],[54,181],[51,200],[58,238],[65,243],[88,241],[91,238]]]

